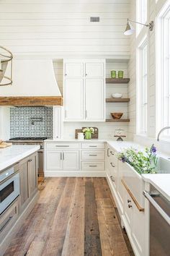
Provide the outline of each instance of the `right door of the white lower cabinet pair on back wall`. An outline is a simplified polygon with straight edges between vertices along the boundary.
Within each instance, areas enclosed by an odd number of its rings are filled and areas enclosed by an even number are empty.
[[[79,151],[63,151],[63,171],[79,170]]]

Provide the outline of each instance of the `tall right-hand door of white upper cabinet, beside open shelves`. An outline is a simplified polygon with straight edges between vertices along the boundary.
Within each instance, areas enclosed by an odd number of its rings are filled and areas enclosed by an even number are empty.
[[[104,80],[86,79],[86,121],[104,121]]]

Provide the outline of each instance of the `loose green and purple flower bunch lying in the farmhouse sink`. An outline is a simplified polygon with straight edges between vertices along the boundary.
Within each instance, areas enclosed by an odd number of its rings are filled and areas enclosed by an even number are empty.
[[[123,163],[129,163],[138,174],[156,174],[158,157],[156,147],[145,148],[144,151],[128,148],[117,154],[117,158]]]

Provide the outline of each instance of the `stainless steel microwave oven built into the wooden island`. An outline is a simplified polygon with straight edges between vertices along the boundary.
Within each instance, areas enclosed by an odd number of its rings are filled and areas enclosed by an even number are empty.
[[[18,164],[0,174],[0,214],[19,196]]]

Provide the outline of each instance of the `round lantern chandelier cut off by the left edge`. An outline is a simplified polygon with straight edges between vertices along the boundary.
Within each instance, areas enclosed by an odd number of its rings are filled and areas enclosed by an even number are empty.
[[[12,85],[12,58],[12,52],[0,46],[0,86]]]

